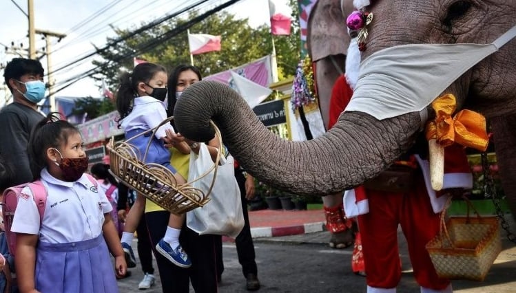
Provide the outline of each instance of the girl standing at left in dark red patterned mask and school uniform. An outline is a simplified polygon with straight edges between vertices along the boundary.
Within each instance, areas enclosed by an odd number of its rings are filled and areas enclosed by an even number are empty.
[[[118,292],[116,274],[125,264],[110,211],[94,179],[85,175],[81,133],[52,113],[32,130],[28,153],[34,180],[48,192],[40,223],[29,188],[19,198],[12,223],[17,233],[14,263],[20,292]]]

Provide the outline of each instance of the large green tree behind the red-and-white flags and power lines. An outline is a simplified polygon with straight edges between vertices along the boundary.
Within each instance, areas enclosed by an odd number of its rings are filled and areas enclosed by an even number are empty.
[[[272,36],[269,25],[251,28],[248,19],[237,19],[234,14],[223,11],[213,14],[189,28],[192,34],[214,34],[222,38],[220,52],[209,52],[194,56],[194,65],[199,67],[203,76],[209,76],[227,69],[238,67],[271,54],[272,37],[276,47],[278,75],[280,80],[293,76],[299,61],[299,23],[297,1],[289,0],[293,11],[293,30],[290,36]],[[99,80],[105,78],[112,89],[118,85],[121,72],[132,69],[133,58],[137,57],[149,62],[159,63],[172,70],[176,65],[189,64],[190,55],[187,32],[182,32],[154,45],[153,40],[174,28],[181,28],[189,19],[198,16],[189,12],[186,18],[174,18],[150,30],[119,42],[110,50],[101,52],[102,61],[94,61],[101,67],[101,74],[95,76]],[[143,23],[142,25],[145,25]],[[116,30],[118,37],[129,36],[132,30]],[[108,38],[112,42],[117,38]]]

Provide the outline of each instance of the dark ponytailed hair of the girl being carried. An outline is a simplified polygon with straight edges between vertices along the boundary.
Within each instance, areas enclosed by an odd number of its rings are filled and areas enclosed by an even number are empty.
[[[127,117],[132,110],[132,101],[138,96],[138,83],[149,83],[157,72],[167,72],[167,69],[154,63],[140,63],[120,76],[120,85],[116,91],[116,109],[120,113],[118,121]]]

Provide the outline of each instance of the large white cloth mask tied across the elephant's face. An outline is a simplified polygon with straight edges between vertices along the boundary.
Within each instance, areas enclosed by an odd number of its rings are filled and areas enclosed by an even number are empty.
[[[344,111],[379,120],[425,109],[457,78],[516,36],[516,26],[491,44],[413,44],[375,52],[360,64]]]

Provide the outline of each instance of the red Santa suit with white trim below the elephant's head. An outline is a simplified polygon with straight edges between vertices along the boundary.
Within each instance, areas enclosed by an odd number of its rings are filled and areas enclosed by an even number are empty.
[[[346,79],[340,76],[331,94],[330,128],[352,94]],[[358,272],[364,270],[364,263],[367,263],[368,292],[395,292],[400,281],[398,225],[406,237],[415,279],[423,291],[451,291],[450,281],[437,276],[425,248],[426,243],[439,232],[440,212],[448,198],[447,195],[437,195],[431,188],[428,160],[422,160],[419,155],[413,155],[411,160],[419,172],[409,193],[366,191],[364,186],[344,193],[344,214],[348,218],[358,216],[360,230],[359,243],[355,243],[353,251],[352,268]],[[453,145],[445,149],[444,173],[443,189],[472,188],[473,177],[462,146]]]

